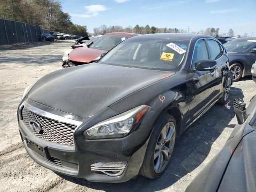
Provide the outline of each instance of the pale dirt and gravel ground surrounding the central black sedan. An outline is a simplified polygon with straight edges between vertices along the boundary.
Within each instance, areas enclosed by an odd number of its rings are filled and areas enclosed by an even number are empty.
[[[183,134],[161,178],[138,176],[123,184],[92,183],[57,175],[36,164],[22,146],[16,110],[24,89],[61,68],[63,52],[74,40],[0,50],[0,191],[172,191],[182,192],[222,148],[237,123],[233,108],[215,104]],[[247,103],[255,94],[251,77],[233,84],[229,100]],[[232,105],[232,103],[230,104]]]

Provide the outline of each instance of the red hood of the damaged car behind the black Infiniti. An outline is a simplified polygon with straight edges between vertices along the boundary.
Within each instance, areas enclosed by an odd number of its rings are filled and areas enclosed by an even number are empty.
[[[68,56],[70,61],[89,63],[107,50],[79,47],[74,49]]]

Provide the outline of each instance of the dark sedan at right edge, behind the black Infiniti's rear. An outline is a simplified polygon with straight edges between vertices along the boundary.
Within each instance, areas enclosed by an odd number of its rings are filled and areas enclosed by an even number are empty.
[[[233,81],[252,75],[251,68],[256,60],[256,37],[234,39],[224,44],[228,51]]]

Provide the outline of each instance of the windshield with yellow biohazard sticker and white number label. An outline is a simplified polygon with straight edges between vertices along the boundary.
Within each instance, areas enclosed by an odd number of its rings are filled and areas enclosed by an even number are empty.
[[[98,63],[178,71],[182,67],[187,40],[131,38],[113,48]]]

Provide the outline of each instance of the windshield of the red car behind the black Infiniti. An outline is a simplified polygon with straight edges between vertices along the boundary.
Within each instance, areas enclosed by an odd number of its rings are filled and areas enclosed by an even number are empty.
[[[122,35],[103,35],[98,39],[98,41],[90,45],[90,48],[108,51],[127,38],[127,36]]]

